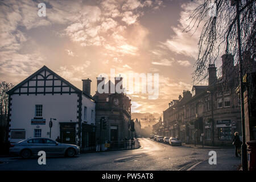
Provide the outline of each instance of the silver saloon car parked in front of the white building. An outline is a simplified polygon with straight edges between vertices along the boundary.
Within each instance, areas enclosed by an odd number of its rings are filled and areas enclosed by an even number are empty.
[[[9,149],[11,155],[22,156],[25,159],[38,155],[39,151],[45,151],[46,155],[73,157],[80,154],[80,147],[75,144],[58,143],[48,138],[31,138],[12,143]]]

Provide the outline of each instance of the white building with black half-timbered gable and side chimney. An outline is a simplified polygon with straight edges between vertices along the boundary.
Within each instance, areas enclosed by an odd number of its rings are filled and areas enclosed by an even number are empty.
[[[77,144],[82,150],[95,146],[95,106],[90,82],[82,90],[46,66],[9,90],[9,140],[46,137]]]

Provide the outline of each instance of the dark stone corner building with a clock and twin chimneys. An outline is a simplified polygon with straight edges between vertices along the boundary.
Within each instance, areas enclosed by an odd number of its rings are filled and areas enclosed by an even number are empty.
[[[124,93],[104,92],[100,93],[98,85],[105,81],[104,77],[97,78],[97,91],[93,98],[96,100],[96,139],[101,143],[107,140],[118,144],[121,140],[130,139],[134,136],[134,122],[131,120],[131,100]],[[102,89],[115,88],[122,78],[115,78],[115,84],[105,82]],[[122,83],[122,82],[121,82]],[[114,86],[114,87],[113,87]],[[122,84],[120,86],[122,89]],[[101,119],[106,121],[105,128],[100,126]]]

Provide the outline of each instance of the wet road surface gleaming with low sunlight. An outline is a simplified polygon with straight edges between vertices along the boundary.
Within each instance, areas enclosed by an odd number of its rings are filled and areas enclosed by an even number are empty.
[[[22,159],[20,157],[0,158],[0,171],[5,170],[236,170],[241,163],[234,156],[233,148],[191,148],[170,146],[148,138],[139,138],[141,148],[127,151],[110,151],[80,154],[75,158],[53,156],[46,159],[46,165],[38,164],[38,157]],[[210,165],[209,151],[216,151],[217,164]]]

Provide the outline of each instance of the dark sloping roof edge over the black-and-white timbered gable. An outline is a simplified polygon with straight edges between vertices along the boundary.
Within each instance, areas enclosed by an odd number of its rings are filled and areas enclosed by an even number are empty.
[[[46,67],[46,65],[44,65],[42,68],[40,68],[38,71],[36,71],[35,73],[33,73],[32,75],[30,75],[29,77],[27,77],[25,80],[23,80],[22,82],[20,82],[19,84],[17,84],[16,86],[14,86],[14,88],[10,89],[8,92],[6,92],[7,94],[11,95],[14,93],[14,91],[16,89],[18,89],[20,86],[24,85],[27,81],[31,80],[33,77],[35,77],[36,75],[38,75],[39,73],[41,73],[42,71],[48,71],[49,73],[51,73],[52,75],[54,75],[55,77],[59,78],[61,81],[63,81],[65,84],[71,86],[72,89],[74,89],[77,93],[82,93],[84,96],[86,96],[82,90],[80,90],[79,88],[77,88],[75,85],[71,84],[69,81],[65,80],[63,77],[57,75],[57,73],[53,72],[51,69],[49,69],[48,67]],[[90,96],[86,96],[90,99],[92,99],[94,101],[94,99]]]

